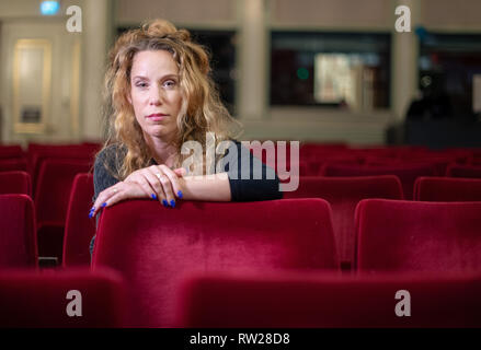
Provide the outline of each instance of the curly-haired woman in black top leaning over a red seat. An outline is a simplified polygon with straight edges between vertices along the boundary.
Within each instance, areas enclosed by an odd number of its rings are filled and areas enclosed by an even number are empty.
[[[110,58],[110,137],[95,160],[96,199],[90,218],[133,198],[159,200],[167,208],[174,208],[177,199],[282,198],[274,171],[239,142],[229,143],[232,118],[214,88],[207,54],[187,31],[156,20],[123,34]],[[205,176],[210,174],[211,138],[228,147],[215,160],[216,175]],[[202,154],[187,152],[192,143],[201,145]],[[262,178],[253,178],[259,172]]]

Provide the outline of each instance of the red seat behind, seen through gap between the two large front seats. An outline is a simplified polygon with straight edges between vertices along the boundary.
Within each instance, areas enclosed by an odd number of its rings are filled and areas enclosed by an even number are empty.
[[[342,267],[351,268],[355,256],[354,211],[365,198],[402,199],[399,178],[393,175],[359,177],[300,177],[295,191],[284,198],[323,198],[331,205],[334,235]]]

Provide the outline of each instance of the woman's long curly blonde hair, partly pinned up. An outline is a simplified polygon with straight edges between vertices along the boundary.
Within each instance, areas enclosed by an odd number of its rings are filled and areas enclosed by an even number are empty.
[[[101,152],[111,144],[125,151],[123,161],[118,162],[119,168],[112,170],[119,179],[150,165],[152,159],[128,101],[134,57],[145,50],[167,50],[179,67],[182,106],[173,144],[177,150],[175,167],[188,156],[181,154],[185,141],[201,142],[205,152],[207,132],[214,132],[218,141],[231,139],[229,128],[234,124],[210,77],[209,56],[203,46],[191,40],[188,31],[177,30],[164,20],[128,31],[118,37],[110,51],[104,86],[106,141]]]

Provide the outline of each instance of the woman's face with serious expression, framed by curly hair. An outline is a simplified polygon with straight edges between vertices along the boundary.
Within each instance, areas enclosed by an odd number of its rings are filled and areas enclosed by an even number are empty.
[[[129,102],[146,136],[168,141],[176,132],[182,96],[179,68],[170,52],[148,50],[135,55]]]

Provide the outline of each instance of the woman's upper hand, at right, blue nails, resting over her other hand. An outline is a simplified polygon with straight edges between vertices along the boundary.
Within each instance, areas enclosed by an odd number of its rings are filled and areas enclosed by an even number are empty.
[[[126,183],[140,185],[148,198],[158,199],[164,207],[175,207],[175,197],[183,197],[185,170],[172,171],[167,165],[152,165],[131,173]]]

